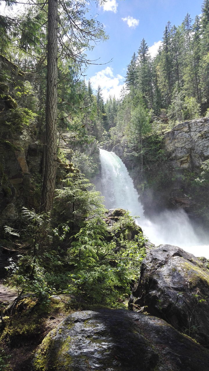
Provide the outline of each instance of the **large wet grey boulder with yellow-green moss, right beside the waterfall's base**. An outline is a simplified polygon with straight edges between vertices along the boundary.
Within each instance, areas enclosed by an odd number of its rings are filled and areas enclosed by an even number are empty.
[[[205,259],[206,261],[206,259]],[[130,306],[144,307],[209,348],[209,270],[176,246],[151,249],[142,262]]]

